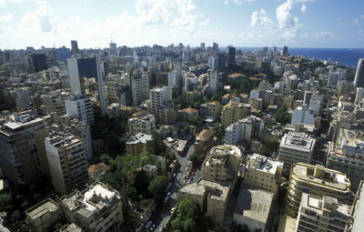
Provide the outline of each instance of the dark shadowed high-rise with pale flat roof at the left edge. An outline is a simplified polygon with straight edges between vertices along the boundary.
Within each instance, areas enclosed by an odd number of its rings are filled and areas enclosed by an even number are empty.
[[[44,139],[45,118],[35,111],[15,114],[15,122],[0,127],[0,166],[6,179],[15,185],[30,183],[37,175],[49,174]]]

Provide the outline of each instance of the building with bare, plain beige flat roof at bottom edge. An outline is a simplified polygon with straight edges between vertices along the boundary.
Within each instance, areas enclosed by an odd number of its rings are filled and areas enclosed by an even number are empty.
[[[233,221],[249,231],[268,232],[272,217],[273,193],[262,189],[240,188]]]

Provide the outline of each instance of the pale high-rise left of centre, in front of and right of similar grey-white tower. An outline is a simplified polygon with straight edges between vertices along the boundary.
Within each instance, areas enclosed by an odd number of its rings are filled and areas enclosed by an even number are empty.
[[[173,123],[176,120],[171,87],[163,86],[151,89],[149,99],[150,113],[156,117],[158,125]]]

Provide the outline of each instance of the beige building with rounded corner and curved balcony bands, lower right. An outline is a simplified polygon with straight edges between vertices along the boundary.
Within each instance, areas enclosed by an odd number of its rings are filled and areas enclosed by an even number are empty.
[[[298,163],[292,166],[288,182],[285,208],[288,216],[297,217],[302,193],[314,197],[336,197],[343,204],[352,198],[350,181],[345,174],[320,165]]]

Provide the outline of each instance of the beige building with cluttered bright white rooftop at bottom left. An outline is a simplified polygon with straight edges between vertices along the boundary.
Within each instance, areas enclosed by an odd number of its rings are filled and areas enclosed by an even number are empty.
[[[120,195],[99,182],[61,197],[60,206],[68,222],[85,227],[86,231],[110,231],[124,222]]]

